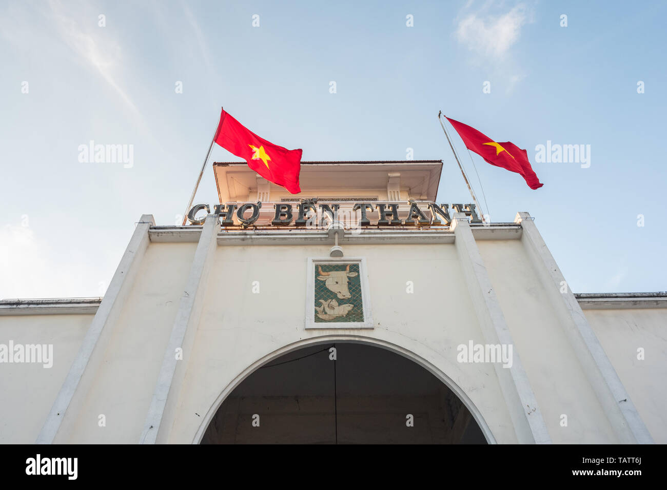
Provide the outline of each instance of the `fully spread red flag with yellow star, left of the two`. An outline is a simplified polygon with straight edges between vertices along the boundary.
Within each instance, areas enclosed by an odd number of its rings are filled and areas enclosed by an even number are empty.
[[[222,110],[215,133],[215,143],[241,157],[248,167],[292,194],[301,192],[299,171],[301,149],[288,150],[255,135]]]

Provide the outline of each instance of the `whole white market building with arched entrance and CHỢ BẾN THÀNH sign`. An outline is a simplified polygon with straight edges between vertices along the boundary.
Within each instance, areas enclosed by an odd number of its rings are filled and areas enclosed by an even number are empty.
[[[667,443],[667,295],[575,295],[528,213],[430,206],[441,170],[216,163],[247,227],[143,215],[103,298],[0,301],[0,442]]]

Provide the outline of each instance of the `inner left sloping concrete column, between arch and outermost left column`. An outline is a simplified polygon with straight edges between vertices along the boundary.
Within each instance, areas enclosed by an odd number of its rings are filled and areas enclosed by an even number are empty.
[[[181,385],[192,351],[197,326],[203,308],[205,285],[217,247],[219,225],[212,215],[206,217],[192,261],[185,291],[179,301],[178,311],[171,329],[171,337],[162,360],[162,367],[153,391],[140,444],[166,443],[175,415]],[[177,359],[177,349],[182,349],[182,359]]]

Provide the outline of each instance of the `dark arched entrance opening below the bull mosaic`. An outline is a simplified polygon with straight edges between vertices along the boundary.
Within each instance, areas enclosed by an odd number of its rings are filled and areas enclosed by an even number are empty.
[[[335,347],[333,360],[331,347]],[[313,345],[245,378],[202,444],[486,443],[447,385],[414,361],[362,343]]]

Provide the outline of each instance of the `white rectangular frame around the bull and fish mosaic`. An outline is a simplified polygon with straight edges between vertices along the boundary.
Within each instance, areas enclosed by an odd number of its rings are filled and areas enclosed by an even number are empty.
[[[331,257],[317,258],[308,257],[307,259],[306,294],[305,294],[305,329],[306,330],[328,330],[328,329],[372,329],[374,328],[373,316],[371,313],[371,294],[368,287],[368,273],[366,271],[366,259],[364,257],[341,257],[340,259],[331,259]],[[319,264],[359,264],[359,280],[362,285],[362,305],[364,311],[364,321],[331,321],[326,323],[315,323],[315,265]]]

